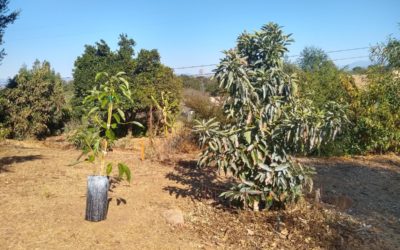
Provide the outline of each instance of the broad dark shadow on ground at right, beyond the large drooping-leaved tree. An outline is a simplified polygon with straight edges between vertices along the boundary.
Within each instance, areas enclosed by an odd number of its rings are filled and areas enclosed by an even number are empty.
[[[322,201],[342,208],[366,224],[381,228],[383,238],[400,244],[400,171],[398,159],[312,159]]]

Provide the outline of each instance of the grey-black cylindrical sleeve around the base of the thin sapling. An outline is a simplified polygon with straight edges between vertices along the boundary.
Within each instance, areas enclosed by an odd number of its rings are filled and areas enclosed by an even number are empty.
[[[86,216],[88,221],[101,221],[107,217],[108,210],[108,188],[107,176],[88,176]]]

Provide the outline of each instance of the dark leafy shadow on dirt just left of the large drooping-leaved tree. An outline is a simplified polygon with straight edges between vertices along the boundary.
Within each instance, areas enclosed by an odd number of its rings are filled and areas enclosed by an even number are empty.
[[[175,181],[177,185],[169,185],[164,190],[176,198],[211,199],[214,203],[222,203],[219,195],[229,189],[233,180],[221,180],[215,169],[199,168],[196,163],[193,160],[178,161],[174,170],[166,175],[167,179]]]

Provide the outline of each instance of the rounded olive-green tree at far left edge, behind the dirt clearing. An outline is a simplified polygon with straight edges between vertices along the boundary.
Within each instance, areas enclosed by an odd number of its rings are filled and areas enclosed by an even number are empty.
[[[50,63],[38,60],[32,69],[23,67],[1,91],[3,121],[11,135],[43,138],[62,127],[65,104],[62,80]]]

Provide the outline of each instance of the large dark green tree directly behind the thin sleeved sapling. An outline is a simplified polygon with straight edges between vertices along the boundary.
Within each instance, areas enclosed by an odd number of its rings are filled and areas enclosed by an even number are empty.
[[[111,51],[104,40],[100,40],[94,46],[85,46],[85,52],[75,61],[73,75],[72,106],[76,118],[80,118],[84,113],[82,100],[96,86],[96,73],[102,71],[107,71],[109,74],[123,71],[127,80],[132,83],[130,88],[133,102],[121,103],[127,121],[136,119],[138,113],[148,113],[154,104],[152,96],[161,102],[162,91],[172,92],[173,98],[180,101],[181,81],[170,68],[162,65],[158,51],[142,49],[135,58],[135,44],[133,39],[122,34],[116,51]],[[126,129],[131,127],[131,125],[120,126],[121,131],[118,134],[126,133]]]

